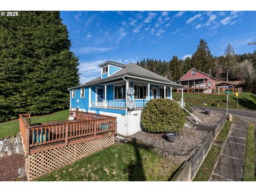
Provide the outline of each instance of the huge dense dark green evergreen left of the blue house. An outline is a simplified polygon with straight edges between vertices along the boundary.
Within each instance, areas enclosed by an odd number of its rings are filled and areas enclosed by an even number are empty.
[[[69,106],[67,88],[79,83],[70,46],[59,11],[0,17],[0,122]]]

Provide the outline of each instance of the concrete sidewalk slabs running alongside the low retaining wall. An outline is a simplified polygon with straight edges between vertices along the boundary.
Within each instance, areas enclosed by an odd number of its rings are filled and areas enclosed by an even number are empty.
[[[242,181],[247,122],[235,119],[209,181]]]

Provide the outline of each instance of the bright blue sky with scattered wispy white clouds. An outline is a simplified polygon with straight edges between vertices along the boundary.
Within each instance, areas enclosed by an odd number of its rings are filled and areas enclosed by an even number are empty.
[[[256,11],[61,11],[79,57],[81,83],[100,76],[106,60],[123,63],[143,58],[190,57],[201,38],[212,54],[230,43],[238,54],[252,52]]]

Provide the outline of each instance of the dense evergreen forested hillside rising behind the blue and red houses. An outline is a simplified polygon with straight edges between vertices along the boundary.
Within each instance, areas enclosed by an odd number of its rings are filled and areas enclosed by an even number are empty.
[[[252,90],[256,91],[256,52],[236,54],[230,44],[223,50],[223,55],[213,57],[207,43],[201,39],[191,58],[182,60],[176,55],[170,61],[147,58],[138,61],[137,65],[174,82],[185,75],[189,69],[196,68],[216,77],[218,81],[242,81],[244,89],[249,90],[252,87]]]

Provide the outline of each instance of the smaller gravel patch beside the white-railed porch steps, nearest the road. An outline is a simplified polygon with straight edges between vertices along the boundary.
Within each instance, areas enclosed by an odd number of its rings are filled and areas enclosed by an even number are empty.
[[[206,115],[205,110],[193,108],[193,115],[195,115],[202,121],[202,123],[199,122],[199,124],[215,126],[225,114],[220,113],[220,111],[212,110],[211,115]],[[192,117],[191,115],[189,116],[189,118],[194,119],[194,117]]]

